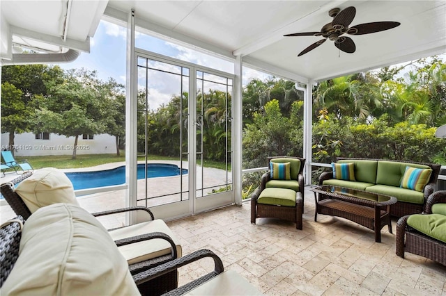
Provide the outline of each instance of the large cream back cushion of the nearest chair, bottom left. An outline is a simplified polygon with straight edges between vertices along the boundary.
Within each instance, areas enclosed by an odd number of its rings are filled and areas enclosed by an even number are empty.
[[[128,264],[102,224],[70,204],[26,220],[19,257],[1,295],[139,295]]]

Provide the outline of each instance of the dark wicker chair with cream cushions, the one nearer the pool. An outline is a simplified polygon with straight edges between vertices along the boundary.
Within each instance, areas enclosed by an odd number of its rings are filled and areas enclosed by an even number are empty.
[[[18,183],[16,188],[15,183]],[[24,217],[25,220],[39,208],[52,204],[66,203],[79,206],[70,179],[66,174],[52,167],[36,170],[34,173],[26,172],[11,183],[3,183],[1,194],[13,208],[13,211]],[[182,256],[180,241],[175,233],[169,229],[163,220],[154,219],[153,213],[148,208],[143,206],[121,208],[93,213],[93,215],[98,217],[129,211],[144,212],[151,219],[118,229],[109,229],[109,235],[112,239],[120,242],[118,249],[128,261],[132,274]],[[148,236],[148,233],[165,233],[167,236],[163,238],[157,236],[157,239],[153,240],[143,238],[137,242],[132,240],[131,244],[125,242],[126,238]],[[173,245],[175,248],[172,247]],[[178,274],[177,272],[171,272],[171,274],[165,275],[163,279],[156,279],[155,281],[157,283],[151,283],[151,286],[160,284],[158,290],[171,290],[178,286]],[[165,286],[163,287],[163,285]]]

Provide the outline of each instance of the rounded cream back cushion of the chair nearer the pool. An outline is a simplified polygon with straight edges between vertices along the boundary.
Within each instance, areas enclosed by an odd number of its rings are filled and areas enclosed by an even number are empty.
[[[15,192],[22,197],[31,213],[50,204],[65,203],[79,206],[70,179],[54,167],[36,170],[19,183]]]

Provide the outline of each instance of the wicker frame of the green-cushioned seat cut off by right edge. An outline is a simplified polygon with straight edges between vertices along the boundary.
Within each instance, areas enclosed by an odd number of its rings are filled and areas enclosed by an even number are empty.
[[[416,215],[431,214],[434,204],[446,204],[446,190],[437,191],[430,195],[424,213]],[[409,252],[446,265],[446,243],[426,236],[424,233],[408,226],[408,217],[410,215],[403,216],[397,222],[397,255],[404,258],[404,252]]]

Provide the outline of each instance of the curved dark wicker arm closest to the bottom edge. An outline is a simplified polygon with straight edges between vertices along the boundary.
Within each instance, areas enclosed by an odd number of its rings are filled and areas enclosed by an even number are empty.
[[[168,293],[164,294],[164,295],[183,295],[188,291],[192,290],[193,288],[200,286],[202,283],[205,283],[209,279],[212,279],[213,277],[216,277],[218,274],[222,273],[224,271],[222,259],[220,259],[219,256],[217,256],[214,252],[210,251],[209,249],[199,249],[198,251],[195,251],[191,254],[187,254],[186,256],[180,257],[173,261],[169,261],[162,265],[158,265],[155,268],[151,268],[149,270],[145,270],[144,272],[134,274],[133,279],[134,282],[137,283],[137,285],[140,285],[141,283],[145,283],[146,281],[150,281],[151,279],[160,277],[163,274],[167,274],[169,272],[177,270],[181,266],[190,264],[194,261],[198,261],[199,259],[206,257],[214,259],[215,268],[212,272],[209,272],[208,274],[204,275],[203,277],[200,277],[199,279],[195,279],[194,281],[191,281],[185,284],[184,286],[180,286],[175,290],[171,290]]]

